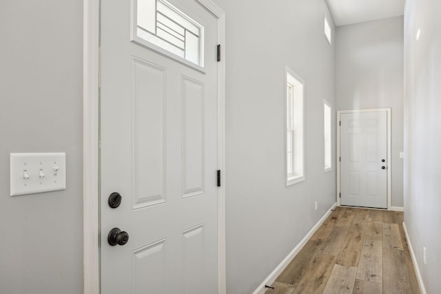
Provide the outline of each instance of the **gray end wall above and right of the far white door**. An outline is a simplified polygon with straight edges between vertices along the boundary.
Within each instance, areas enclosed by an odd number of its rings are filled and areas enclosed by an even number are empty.
[[[393,207],[403,206],[403,17],[343,25],[336,33],[337,110],[392,109]]]

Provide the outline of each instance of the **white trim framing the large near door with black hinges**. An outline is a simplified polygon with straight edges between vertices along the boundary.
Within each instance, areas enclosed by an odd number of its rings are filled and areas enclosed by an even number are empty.
[[[218,20],[218,294],[226,293],[225,263],[225,13],[211,0],[195,0]],[[99,12],[83,0],[83,279],[84,294],[99,294]]]

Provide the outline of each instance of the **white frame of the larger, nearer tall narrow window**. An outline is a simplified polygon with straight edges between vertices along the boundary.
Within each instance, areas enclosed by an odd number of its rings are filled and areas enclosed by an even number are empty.
[[[289,76],[291,76],[291,77],[289,77]],[[302,118],[300,118],[300,120],[298,120],[298,121],[300,121],[300,123],[301,123],[301,130],[300,130],[300,132],[301,132],[301,140],[302,140],[302,142],[300,143],[300,146],[302,147],[302,150],[301,150],[301,154],[299,155],[299,154],[296,154],[296,151],[294,150],[294,143],[291,143],[291,158],[292,158],[292,162],[291,162],[291,165],[292,165],[292,169],[295,169],[295,166],[296,166],[296,164],[295,164],[295,160],[296,160],[296,158],[297,159],[299,159],[298,158],[298,156],[300,156],[300,160],[301,160],[301,163],[300,163],[300,171],[297,169],[297,171],[294,171],[293,170],[293,172],[291,173],[291,174],[289,174],[288,173],[288,132],[289,132],[289,127],[288,127],[288,120],[289,120],[289,116],[288,116],[288,113],[289,113],[289,109],[288,109],[288,83],[289,83],[289,79],[291,79],[291,78],[293,78],[295,81],[296,81],[296,83],[298,84],[298,85],[301,85],[302,86],[302,88],[301,88],[301,97],[300,97],[300,99],[301,99],[301,109],[300,110],[298,110],[298,112],[300,112],[301,114],[302,114]],[[295,86],[295,85],[294,85]],[[284,105],[285,105],[285,107],[283,107],[283,109],[284,109],[284,112],[285,112],[285,115],[284,115],[284,118],[285,118],[285,120],[284,120],[284,132],[285,132],[285,147],[284,147],[284,150],[285,150],[285,156],[284,156],[284,160],[285,160],[285,185],[286,185],[286,187],[288,187],[288,186],[291,186],[291,185],[294,185],[294,184],[297,184],[297,183],[299,183],[299,182],[303,182],[303,181],[305,181],[305,81],[303,81],[302,80],[302,78],[300,78],[293,70],[291,70],[289,67],[287,67],[287,66],[285,66],[285,84],[284,84],[284,88],[285,88],[285,91],[284,91],[284,94],[285,94],[285,96],[284,96],[284,98],[283,98],[283,101],[284,101]],[[294,91],[294,93],[295,93],[296,91]],[[293,116],[294,116],[294,113],[295,113],[295,109],[294,109],[294,105],[295,104],[298,104],[298,103],[296,103],[295,102],[295,100],[296,100],[296,97],[294,97],[294,93],[293,93],[293,109],[292,109],[292,113],[293,113]],[[296,129],[296,127],[294,127],[294,129],[293,129],[293,133],[294,132],[296,132],[295,131],[295,129]],[[294,138],[296,138],[296,136],[293,134],[293,137]]]

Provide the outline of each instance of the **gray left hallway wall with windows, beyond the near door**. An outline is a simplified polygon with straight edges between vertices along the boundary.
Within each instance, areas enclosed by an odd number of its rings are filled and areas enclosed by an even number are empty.
[[[249,294],[336,202],[335,162],[323,172],[322,118],[323,99],[335,110],[334,45],[323,34],[325,0],[216,3],[227,16],[227,293]],[[291,187],[285,65],[305,81],[306,180]]]

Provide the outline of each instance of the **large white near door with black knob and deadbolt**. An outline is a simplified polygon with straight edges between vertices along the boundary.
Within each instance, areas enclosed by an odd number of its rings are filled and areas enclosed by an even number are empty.
[[[216,42],[196,1],[101,0],[102,294],[217,293]]]

